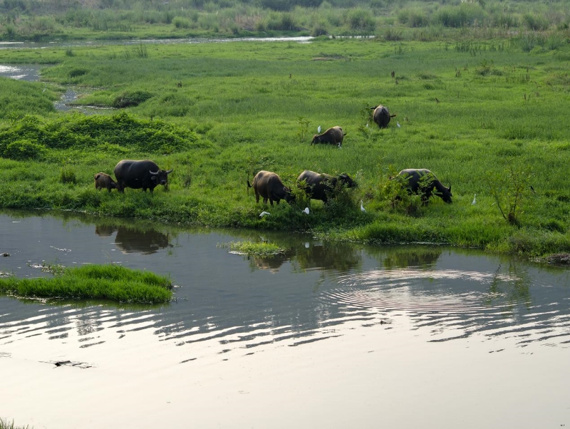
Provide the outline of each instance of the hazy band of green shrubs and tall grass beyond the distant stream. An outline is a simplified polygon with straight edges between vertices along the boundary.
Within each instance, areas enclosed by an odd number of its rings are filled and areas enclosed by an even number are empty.
[[[275,32],[432,40],[438,29],[566,31],[565,1],[1,0],[0,38],[255,36]],[[160,31],[157,29],[160,28]],[[427,29],[410,31],[410,29]],[[154,29],[154,32],[152,31]],[[64,31],[66,30],[66,31]],[[71,35],[70,35],[71,31]],[[502,33],[497,33],[502,31]],[[76,33],[76,34],[74,34]],[[106,33],[106,34],[105,34]],[[481,35],[481,34],[480,34]]]

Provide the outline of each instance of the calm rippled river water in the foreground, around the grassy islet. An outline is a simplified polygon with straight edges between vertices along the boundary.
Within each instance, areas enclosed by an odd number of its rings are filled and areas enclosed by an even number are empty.
[[[269,259],[219,245],[244,239],[288,250]],[[14,213],[0,215],[0,252],[10,254],[4,275],[115,263],[177,285],[158,307],[0,297],[10,386],[0,417],[19,424],[570,425],[565,269],[442,247]]]

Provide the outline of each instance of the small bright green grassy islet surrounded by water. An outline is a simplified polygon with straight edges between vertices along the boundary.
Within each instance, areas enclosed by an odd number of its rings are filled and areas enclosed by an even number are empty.
[[[118,265],[66,268],[61,274],[36,279],[0,279],[0,292],[33,298],[110,299],[159,304],[172,298],[167,276],[139,272]]]

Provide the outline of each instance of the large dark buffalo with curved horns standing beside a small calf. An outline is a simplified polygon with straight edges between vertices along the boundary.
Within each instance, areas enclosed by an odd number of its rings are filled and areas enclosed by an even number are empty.
[[[168,175],[173,169],[168,171],[160,170],[158,165],[151,160],[122,160],[115,166],[115,177],[117,178],[117,189],[125,192],[125,187],[140,189],[152,192],[157,185],[168,186]]]

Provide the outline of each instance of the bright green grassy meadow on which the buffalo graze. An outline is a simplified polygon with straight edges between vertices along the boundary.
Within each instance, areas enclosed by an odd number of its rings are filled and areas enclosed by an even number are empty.
[[[37,94],[73,85],[98,115],[0,120],[3,208],[81,210],[209,227],[310,231],[358,242],[440,242],[544,255],[570,249],[570,49],[520,38],[465,43],[318,40],[0,51],[0,63],[53,63]],[[394,72],[394,73],[392,73]],[[7,82],[15,91],[18,83]],[[48,91],[43,92],[47,86]],[[28,91],[28,88],[26,88]],[[126,103],[124,100],[132,100]],[[123,104],[122,104],[123,103]],[[397,116],[380,130],[370,106]],[[398,124],[400,126],[398,126]],[[341,125],[341,149],[309,145]],[[170,190],[97,192],[96,172],[150,157]],[[396,200],[388,177],[425,167],[453,204]],[[305,169],[347,172],[358,188],[328,205],[256,205],[246,180]],[[531,188],[532,187],[532,188]],[[476,204],[472,205],[475,194]],[[360,210],[360,200],[366,213]],[[262,210],[271,215],[259,217]]]

